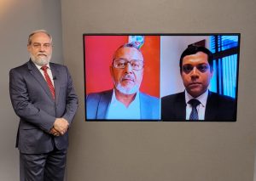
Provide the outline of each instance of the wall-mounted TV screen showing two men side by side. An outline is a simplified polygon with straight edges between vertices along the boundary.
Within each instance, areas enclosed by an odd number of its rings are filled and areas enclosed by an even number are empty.
[[[85,121],[236,122],[239,33],[83,41]]]

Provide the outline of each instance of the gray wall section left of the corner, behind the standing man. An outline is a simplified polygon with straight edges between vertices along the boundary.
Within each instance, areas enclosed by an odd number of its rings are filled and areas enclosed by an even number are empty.
[[[62,64],[61,1],[0,0],[0,180],[19,180],[19,152],[15,149],[19,118],[9,100],[9,70],[28,60],[27,37],[37,29],[52,33],[52,59]]]

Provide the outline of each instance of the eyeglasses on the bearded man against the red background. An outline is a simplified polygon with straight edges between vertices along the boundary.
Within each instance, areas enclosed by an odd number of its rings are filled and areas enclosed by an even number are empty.
[[[126,65],[130,64],[134,71],[141,71],[143,69],[143,60],[140,59],[113,59],[113,67],[117,69],[125,69]]]

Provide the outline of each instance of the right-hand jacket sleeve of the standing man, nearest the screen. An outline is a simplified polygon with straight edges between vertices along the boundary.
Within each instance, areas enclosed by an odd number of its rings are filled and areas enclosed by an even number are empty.
[[[67,70],[67,67],[66,67],[66,70]],[[73,117],[75,116],[78,106],[79,106],[79,99],[73,88],[72,77],[70,76],[70,73],[67,70],[66,109],[62,117],[65,118],[67,122],[69,122],[69,124],[71,124],[71,122],[73,121]]]

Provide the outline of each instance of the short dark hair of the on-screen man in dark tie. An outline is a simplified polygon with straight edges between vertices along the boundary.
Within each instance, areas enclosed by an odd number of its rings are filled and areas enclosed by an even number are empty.
[[[207,54],[208,56],[208,63],[210,65],[210,70],[213,70],[213,54],[212,52],[205,48],[205,47],[199,47],[199,46],[195,46],[195,45],[189,45],[188,48],[186,48],[183,51],[183,54],[181,54],[180,59],[179,59],[179,70],[180,72],[182,72],[182,66],[183,66],[183,58],[187,55],[191,55],[191,54],[196,54],[198,52],[202,52],[204,54]]]

